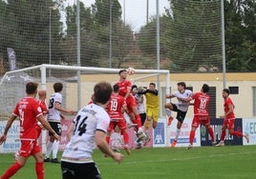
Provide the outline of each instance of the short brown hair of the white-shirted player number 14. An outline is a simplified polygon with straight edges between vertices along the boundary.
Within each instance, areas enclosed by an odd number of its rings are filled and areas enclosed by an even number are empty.
[[[94,88],[95,102],[105,104],[112,94],[112,87],[108,82],[99,82]]]

